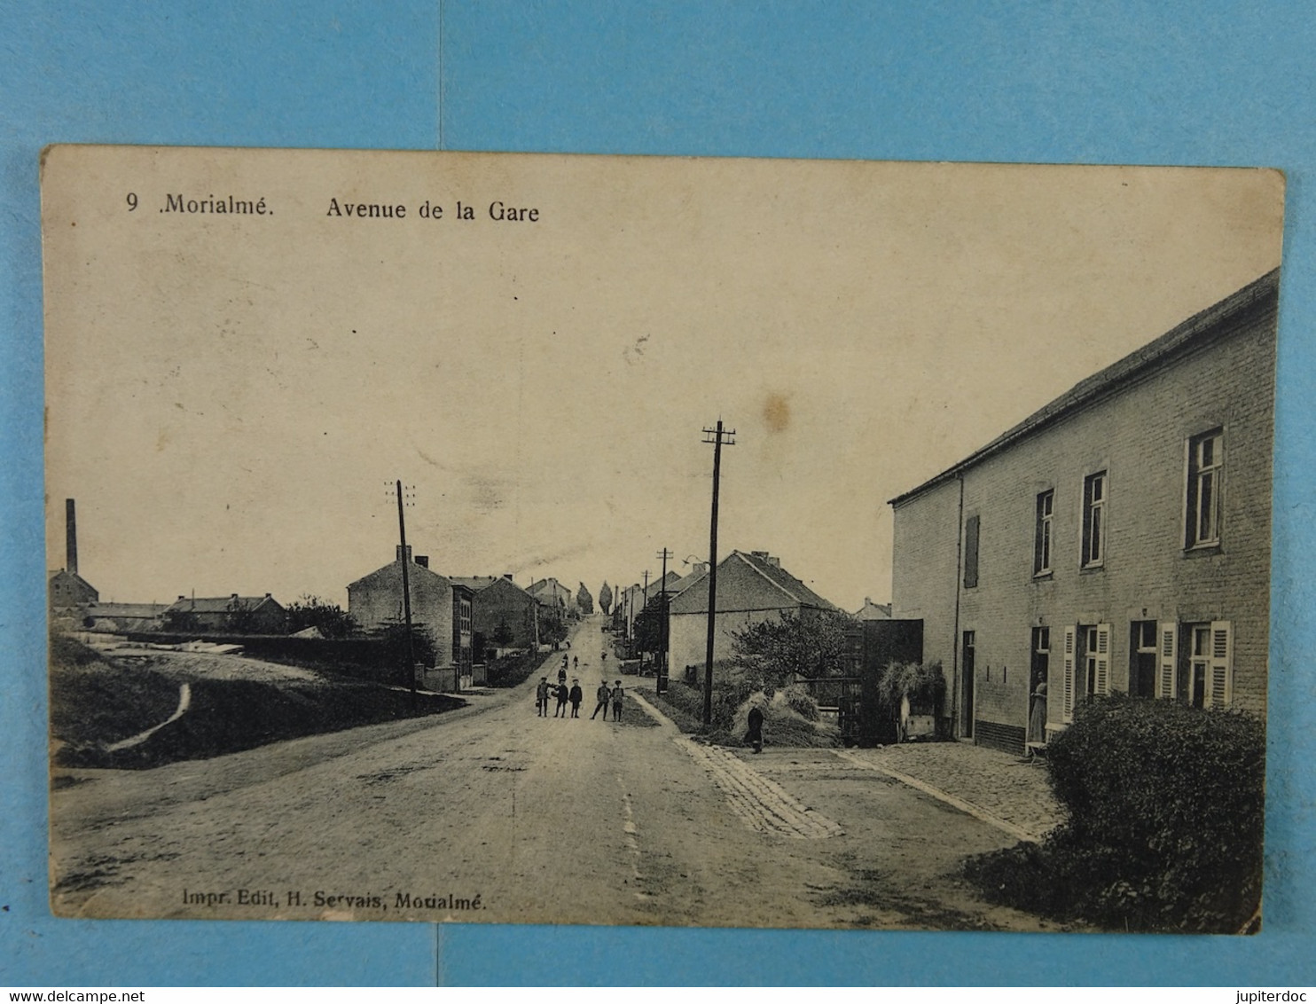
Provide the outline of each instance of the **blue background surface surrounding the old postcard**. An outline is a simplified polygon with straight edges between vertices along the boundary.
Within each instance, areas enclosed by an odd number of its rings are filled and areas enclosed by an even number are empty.
[[[1312,53],[1304,0],[0,0],[0,984],[1316,982]],[[53,142],[1284,168],[1265,932],[51,917],[37,159]]]

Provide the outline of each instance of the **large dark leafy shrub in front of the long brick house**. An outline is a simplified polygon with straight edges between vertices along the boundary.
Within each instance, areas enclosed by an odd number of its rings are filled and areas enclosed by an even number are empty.
[[[1104,699],[1051,741],[1048,768],[1067,822],[1026,855],[971,862],[984,891],[1129,930],[1236,932],[1252,916],[1265,801],[1257,718]]]

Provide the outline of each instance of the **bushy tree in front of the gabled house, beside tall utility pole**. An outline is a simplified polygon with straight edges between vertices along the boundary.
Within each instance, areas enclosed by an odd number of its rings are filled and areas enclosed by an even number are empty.
[[[732,632],[732,658],[766,691],[787,686],[795,676],[845,674],[845,636],[854,617],[842,611],[783,611]]]

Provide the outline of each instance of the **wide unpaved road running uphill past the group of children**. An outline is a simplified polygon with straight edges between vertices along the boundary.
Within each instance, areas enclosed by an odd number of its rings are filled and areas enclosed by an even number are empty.
[[[596,620],[574,636],[575,720],[537,717],[532,676],[437,718],[57,771],[55,912],[1045,928],[954,878],[1005,834],[828,750],[736,755],[591,721],[599,637]]]

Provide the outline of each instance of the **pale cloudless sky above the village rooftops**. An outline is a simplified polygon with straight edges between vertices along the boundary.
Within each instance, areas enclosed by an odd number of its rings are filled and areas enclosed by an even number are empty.
[[[720,417],[719,554],[887,601],[887,500],[1278,266],[1282,203],[1249,168],[57,147],[47,563],[74,497],[103,600],[346,605],[400,479],[436,571],[597,595],[707,558]]]

